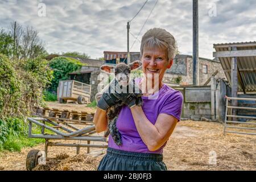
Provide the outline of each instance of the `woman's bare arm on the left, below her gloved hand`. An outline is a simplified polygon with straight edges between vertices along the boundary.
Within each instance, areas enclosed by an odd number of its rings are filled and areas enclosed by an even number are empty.
[[[97,133],[106,131],[108,128],[108,120],[106,117],[106,111],[97,107],[96,113],[94,114],[93,123]]]

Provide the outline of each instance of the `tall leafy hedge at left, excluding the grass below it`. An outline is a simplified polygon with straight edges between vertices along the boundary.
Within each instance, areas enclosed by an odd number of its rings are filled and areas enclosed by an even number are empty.
[[[43,105],[43,91],[53,72],[48,61],[37,57],[10,60],[0,54],[0,118],[27,117],[33,106]]]

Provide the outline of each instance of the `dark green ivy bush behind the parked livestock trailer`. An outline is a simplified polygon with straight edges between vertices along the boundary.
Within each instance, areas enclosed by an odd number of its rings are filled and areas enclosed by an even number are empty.
[[[60,80],[67,80],[69,78],[68,73],[77,71],[82,67],[82,63],[71,57],[55,57],[53,58],[49,66],[54,69],[52,85],[49,90],[56,91],[59,86]]]

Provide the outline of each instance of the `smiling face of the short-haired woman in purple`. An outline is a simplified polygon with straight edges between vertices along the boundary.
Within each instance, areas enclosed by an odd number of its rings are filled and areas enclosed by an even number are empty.
[[[154,80],[158,74],[159,83],[162,82],[167,68],[171,68],[172,60],[168,60],[167,51],[159,48],[144,47],[142,55],[142,70],[147,78]]]

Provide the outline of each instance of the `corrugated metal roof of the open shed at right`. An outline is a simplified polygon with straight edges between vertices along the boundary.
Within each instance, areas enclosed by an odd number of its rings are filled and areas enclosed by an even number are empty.
[[[256,49],[256,42],[222,43],[213,44],[216,52],[230,51],[230,47],[240,50]],[[232,57],[218,57],[225,75],[231,83],[231,60]],[[246,92],[256,91],[256,56],[237,57],[238,89],[242,91],[244,85]]]

